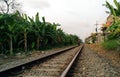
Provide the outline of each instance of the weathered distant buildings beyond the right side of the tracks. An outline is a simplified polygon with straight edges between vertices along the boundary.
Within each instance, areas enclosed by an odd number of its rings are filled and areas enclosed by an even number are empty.
[[[118,18],[120,19],[120,18]],[[114,16],[109,15],[107,17],[106,23],[102,24],[101,31],[102,33],[92,33],[89,37],[85,39],[86,43],[101,43],[104,39],[107,39],[108,32],[106,32],[107,28],[114,23]]]

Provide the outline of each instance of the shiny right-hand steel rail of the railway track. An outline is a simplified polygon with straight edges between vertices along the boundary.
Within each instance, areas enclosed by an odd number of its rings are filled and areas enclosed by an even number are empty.
[[[74,58],[71,60],[71,62],[68,64],[68,66],[66,67],[66,69],[61,73],[60,77],[66,77],[66,75],[68,74],[70,68],[72,67],[73,63],[75,62],[76,58],[78,57],[79,53],[82,51],[82,48],[83,48],[83,45],[78,50],[78,52],[76,53],[76,55],[74,56]]]

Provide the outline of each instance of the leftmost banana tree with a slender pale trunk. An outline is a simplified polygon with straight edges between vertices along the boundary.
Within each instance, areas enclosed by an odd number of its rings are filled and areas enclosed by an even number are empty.
[[[15,14],[3,14],[3,27],[5,29],[5,35],[9,37],[9,48],[10,48],[10,55],[13,54],[13,39],[15,38],[16,32],[16,17],[17,13]]]

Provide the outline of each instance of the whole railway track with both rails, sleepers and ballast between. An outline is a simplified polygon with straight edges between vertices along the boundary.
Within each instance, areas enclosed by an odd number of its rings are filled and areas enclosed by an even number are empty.
[[[65,77],[83,45],[0,72],[0,77]]]

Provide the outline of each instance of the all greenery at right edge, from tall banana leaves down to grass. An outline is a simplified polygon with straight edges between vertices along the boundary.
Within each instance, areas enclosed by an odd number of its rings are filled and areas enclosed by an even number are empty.
[[[106,7],[109,9],[110,15],[114,16],[114,22],[106,29],[107,39],[102,46],[108,50],[120,51],[120,2],[114,0],[115,7],[106,1]]]

